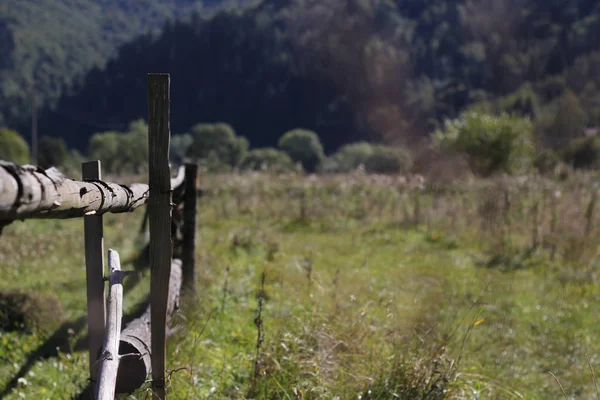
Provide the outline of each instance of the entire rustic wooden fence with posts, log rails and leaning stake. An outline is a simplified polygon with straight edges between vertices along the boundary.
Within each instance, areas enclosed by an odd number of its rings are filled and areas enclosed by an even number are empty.
[[[99,161],[82,165],[82,181],[68,179],[56,168],[43,170],[0,161],[0,233],[15,220],[84,217],[90,378],[95,398],[130,393],[139,388],[150,373],[153,398],[166,398],[167,324],[178,308],[181,287],[189,288],[190,294],[195,288],[197,166],[181,167],[177,177],[170,178],[169,86],[168,74],[148,74],[148,185],[104,182]],[[121,333],[121,280],[127,271],[120,270],[118,253],[111,250],[110,321],[107,322],[102,215],[130,212],[146,203],[144,221],[148,220],[150,225],[150,305],[142,317]],[[183,212],[173,215],[173,206]],[[176,243],[172,227],[175,227]],[[183,255],[183,262],[172,259],[174,247]],[[123,350],[127,350],[126,357],[118,354]]]

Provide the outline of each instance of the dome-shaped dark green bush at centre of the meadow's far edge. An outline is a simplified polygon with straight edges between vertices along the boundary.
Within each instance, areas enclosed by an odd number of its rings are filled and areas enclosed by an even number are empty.
[[[292,161],[300,162],[307,172],[315,172],[325,159],[319,136],[306,129],[286,132],[279,139],[279,148],[285,151]]]

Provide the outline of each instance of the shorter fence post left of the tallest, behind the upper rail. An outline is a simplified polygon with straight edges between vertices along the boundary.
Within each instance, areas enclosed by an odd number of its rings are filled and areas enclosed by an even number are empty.
[[[81,165],[82,178],[101,179],[100,161]],[[102,215],[83,217],[89,334],[89,367],[92,387],[96,383],[96,359],[104,342],[106,305],[104,296],[104,235]]]

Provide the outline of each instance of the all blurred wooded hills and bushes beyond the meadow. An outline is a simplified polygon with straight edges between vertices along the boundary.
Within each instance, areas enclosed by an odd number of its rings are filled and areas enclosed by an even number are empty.
[[[286,164],[273,151],[247,151],[302,129],[318,135],[323,154],[315,145],[308,161],[303,150],[283,150],[308,172],[406,171],[423,149],[439,154],[432,133],[463,121],[470,133],[444,151],[465,154],[476,173],[590,168],[598,34],[600,4],[591,0],[7,0],[0,126],[29,136],[35,85],[40,135],[102,155],[110,170],[139,171],[145,148],[121,146],[141,140],[131,124],[147,116],[146,73],[162,71],[172,75],[175,163],[254,169],[258,161],[244,163],[252,154]],[[475,132],[488,128],[495,133]],[[214,147],[199,152],[206,141]],[[365,143],[402,151],[380,149],[376,161]],[[489,149],[497,144],[516,160],[498,159]],[[121,161],[111,158],[116,148]]]

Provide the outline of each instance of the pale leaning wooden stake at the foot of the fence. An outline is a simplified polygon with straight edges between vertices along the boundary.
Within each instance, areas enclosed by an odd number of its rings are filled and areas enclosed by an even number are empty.
[[[123,277],[119,253],[108,251],[108,266],[110,270],[108,313],[106,318],[106,336],[102,346],[102,354],[98,359],[100,371],[98,385],[94,398],[96,400],[113,400],[119,369],[119,339],[121,320],[123,318]]]

